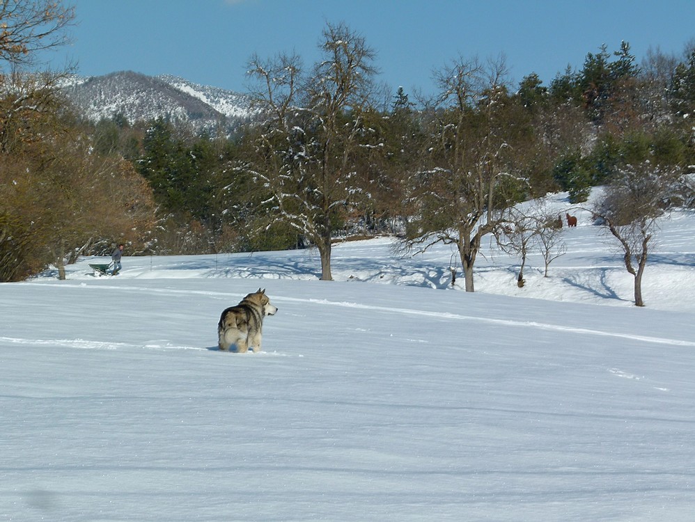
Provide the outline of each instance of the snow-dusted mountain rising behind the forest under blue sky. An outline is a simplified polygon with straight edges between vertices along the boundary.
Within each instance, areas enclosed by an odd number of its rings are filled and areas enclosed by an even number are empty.
[[[75,77],[64,91],[77,110],[92,121],[116,114],[131,123],[164,118],[187,123],[201,132],[233,129],[252,116],[245,95],[171,75],[151,77],[123,71]]]

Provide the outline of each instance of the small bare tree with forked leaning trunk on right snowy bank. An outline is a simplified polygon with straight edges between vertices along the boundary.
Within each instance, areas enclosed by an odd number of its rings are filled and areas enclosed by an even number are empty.
[[[642,276],[657,232],[657,219],[682,203],[682,169],[649,161],[621,169],[593,209],[623,251],[625,269],[634,277],[634,303],[644,306]]]

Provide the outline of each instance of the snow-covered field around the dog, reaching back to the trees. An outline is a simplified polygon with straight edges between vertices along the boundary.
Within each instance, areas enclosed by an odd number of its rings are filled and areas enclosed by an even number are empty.
[[[521,289],[489,248],[470,294],[450,248],[389,239],[337,245],[333,282],[288,251],[0,285],[0,520],[692,521],[695,215],[637,308],[576,214]],[[263,351],[217,351],[259,286]]]

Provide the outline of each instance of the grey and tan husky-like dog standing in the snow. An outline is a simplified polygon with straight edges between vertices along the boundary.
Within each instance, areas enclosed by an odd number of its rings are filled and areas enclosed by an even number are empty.
[[[227,308],[217,324],[219,349],[228,351],[235,345],[240,353],[248,351],[249,347],[260,351],[263,317],[275,315],[277,311],[265,295],[265,288],[247,295],[237,306]]]

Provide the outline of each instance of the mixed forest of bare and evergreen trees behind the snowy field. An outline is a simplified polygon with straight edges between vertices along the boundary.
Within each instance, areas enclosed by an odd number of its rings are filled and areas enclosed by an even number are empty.
[[[415,250],[455,244],[473,290],[481,239],[520,230],[520,201],[568,191],[581,205],[606,185],[597,216],[616,227],[695,205],[695,42],[640,60],[628,42],[598,47],[547,84],[453,57],[423,98],[380,84],[375,50],[329,23],[317,63],[249,58],[261,116],[226,136],[89,122],[61,95],[72,71],[33,59],[68,41],[74,9],[6,1],[0,22],[0,281],[116,243],[130,255],[313,246],[331,279],[336,239],[389,234]]]

